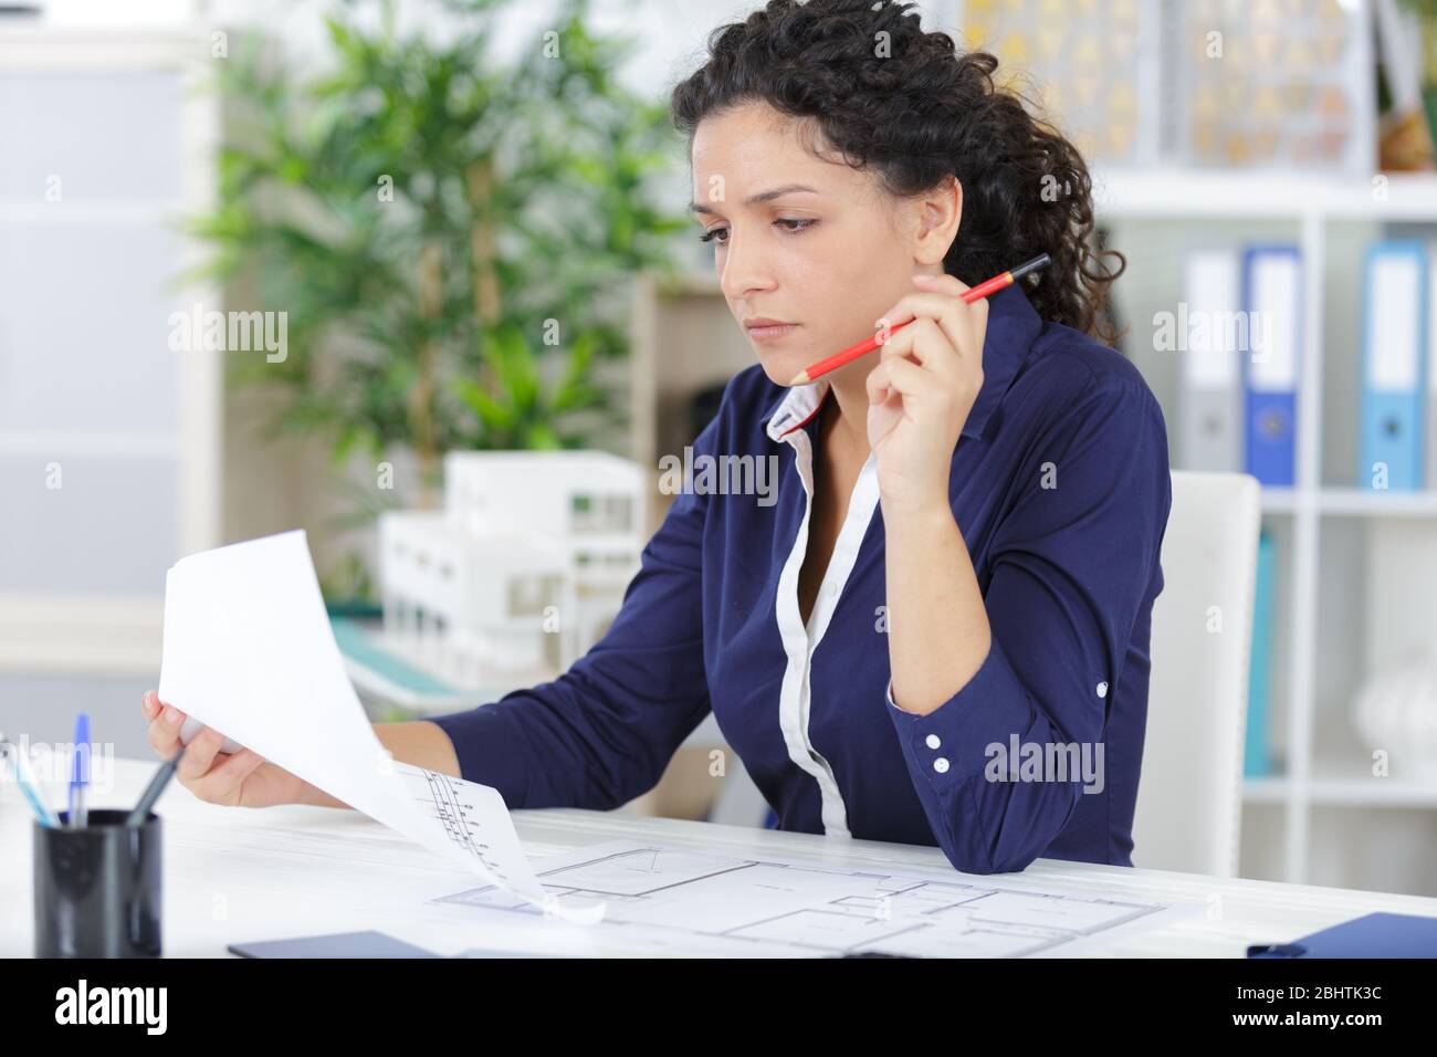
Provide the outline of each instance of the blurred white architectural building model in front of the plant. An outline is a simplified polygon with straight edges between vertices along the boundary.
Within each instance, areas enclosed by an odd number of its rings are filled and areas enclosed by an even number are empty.
[[[379,518],[387,644],[460,689],[555,677],[624,601],[645,488],[605,452],[451,452],[443,511]]]

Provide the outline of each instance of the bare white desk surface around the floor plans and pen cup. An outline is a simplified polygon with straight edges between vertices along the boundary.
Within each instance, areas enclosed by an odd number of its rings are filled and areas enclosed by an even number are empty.
[[[154,764],[114,761],[91,807],[128,807]],[[45,788],[63,802],[63,787]],[[632,955],[612,935],[527,915],[474,912],[427,900],[476,887],[450,867],[355,811],[279,807],[260,811],[197,801],[172,782],[164,818],[164,949],[168,956],[226,956],[226,945],[322,932],[378,929],[438,953],[494,948],[533,953]],[[938,848],[816,834],[750,830],[601,811],[514,811],[525,850],[553,854],[611,840],[658,841],[724,854],[766,854],[839,866],[882,864],[950,871]],[[13,782],[0,784],[0,956],[33,951],[32,814]],[[963,876],[963,874],[954,874]],[[1198,903],[1209,912],[1154,932],[1118,936],[1109,956],[1240,958],[1247,943],[1283,942],[1372,910],[1437,918],[1437,899],[1325,889],[1040,859],[1009,882],[1046,882],[1106,897]],[[468,915],[467,918],[464,915]],[[599,935],[608,933],[608,935]]]

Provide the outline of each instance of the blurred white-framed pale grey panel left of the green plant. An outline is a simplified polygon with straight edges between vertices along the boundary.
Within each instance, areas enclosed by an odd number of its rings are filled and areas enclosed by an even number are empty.
[[[167,342],[221,306],[174,282],[216,188],[213,62],[201,27],[0,22],[0,697],[32,739],[83,708],[144,746],[164,569],[220,538],[223,354]]]

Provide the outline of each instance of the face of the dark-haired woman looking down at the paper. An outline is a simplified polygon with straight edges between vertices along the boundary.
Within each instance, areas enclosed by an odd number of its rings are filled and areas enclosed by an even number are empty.
[[[795,324],[772,335],[744,326],[779,385],[872,337],[915,272],[941,270],[915,257],[918,210],[885,196],[868,173],[813,157],[799,125],[763,104],[704,118],[691,161],[694,217],[734,319]]]

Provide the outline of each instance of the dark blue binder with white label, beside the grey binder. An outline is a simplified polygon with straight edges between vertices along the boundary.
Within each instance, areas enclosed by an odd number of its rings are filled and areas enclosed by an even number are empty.
[[[1302,253],[1296,246],[1247,247],[1243,308],[1249,319],[1249,354],[1243,357],[1247,472],[1263,485],[1292,486],[1303,329]]]

